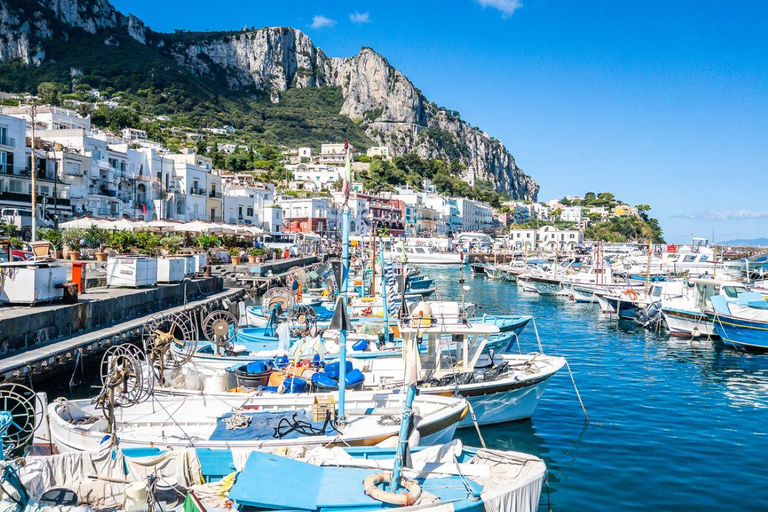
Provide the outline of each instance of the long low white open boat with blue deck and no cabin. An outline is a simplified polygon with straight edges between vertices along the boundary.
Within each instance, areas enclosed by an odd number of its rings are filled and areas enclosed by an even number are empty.
[[[152,396],[114,409],[114,420],[91,399],[58,399],[48,406],[50,436],[59,452],[97,450],[115,436],[123,448],[264,448],[373,446],[396,438],[405,395],[391,391],[350,392],[346,422],[329,418],[323,404],[335,394],[232,394]],[[445,443],[467,414],[463,399],[424,396],[414,402],[420,443]],[[327,414],[326,414],[327,413]]]

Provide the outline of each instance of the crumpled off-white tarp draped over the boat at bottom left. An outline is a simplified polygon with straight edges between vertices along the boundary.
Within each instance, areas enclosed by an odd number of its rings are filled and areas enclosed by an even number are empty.
[[[126,474],[127,469],[127,474]],[[80,504],[94,509],[121,509],[125,482],[146,482],[150,474],[178,483],[183,488],[203,483],[202,468],[194,449],[166,452],[150,457],[126,457],[105,445],[98,452],[72,452],[29,457],[19,477],[30,498],[39,501],[50,489],[71,489]],[[93,478],[97,477],[97,478]]]

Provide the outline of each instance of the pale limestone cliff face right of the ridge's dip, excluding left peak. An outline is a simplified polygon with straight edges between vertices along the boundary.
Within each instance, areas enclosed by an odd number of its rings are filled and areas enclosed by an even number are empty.
[[[538,184],[517,167],[500,141],[439,110],[370,48],[354,57],[329,58],[303,32],[278,27],[206,37],[176,44],[171,51],[198,75],[216,73],[212,65],[223,69],[232,88],[338,86],[344,96],[340,113],[365,123],[368,136],[394,154],[455,158],[467,166],[465,179],[470,183],[490,181],[521,199],[534,200],[538,194]]]

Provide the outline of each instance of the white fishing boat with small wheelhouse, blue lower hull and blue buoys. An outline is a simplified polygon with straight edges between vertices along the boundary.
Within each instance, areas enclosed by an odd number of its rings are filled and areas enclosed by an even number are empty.
[[[347,374],[353,370],[359,372],[362,377],[359,387],[363,390],[397,390],[406,382],[406,369],[413,360],[413,350],[423,345],[427,350],[421,350],[418,354],[421,369],[420,396],[458,394],[472,405],[477,423],[487,425],[529,418],[549,379],[565,364],[562,357],[542,353],[489,354],[486,344],[492,336],[499,334],[497,326],[466,324],[455,319],[432,323],[431,318],[419,317],[415,320],[419,324],[429,322],[429,326],[424,324],[424,327],[419,327],[417,324],[415,327],[399,327],[405,347],[403,350],[350,351],[346,356],[349,361]],[[338,363],[334,366],[336,373],[329,378],[331,365],[323,368],[311,361],[316,360],[316,352],[312,350],[330,350],[336,354],[338,347],[329,346],[329,343],[319,347],[310,343],[307,347],[311,350],[305,357],[292,356],[294,363],[285,368],[270,373],[269,367],[262,364],[258,365],[258,370],[252,370],[258,371],[264,383],[260,387],[243,387],[242,381],[238,380],[248,378],[247,360],[242,357],[209,356],[195,357],[189,362],[189,369],[199,373],[199,377],[191,379],[197,387],[183,389],[185,380],[177,378],[178,371],[174,370],[175,373],[169,373],[166,381],[178,382],[177,387],[163,388],[156,385],[155,393],[180,396],[205,393],[229,398],[252,392],[267,395],[275,393],[283,385],[284,379],[293,377],[308,383],[307,391],[310,394],[313,390],[327,391],[327,386],[337,386],[340,382]],[[460,427],[472,424],[472,418],[467,417]]]

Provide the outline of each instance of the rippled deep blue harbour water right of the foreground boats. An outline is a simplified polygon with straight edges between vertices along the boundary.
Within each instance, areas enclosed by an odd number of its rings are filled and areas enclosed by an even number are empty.
[[[424,271],[440,298],[460,298],[458,271]],[[589,425],[563,369],[530,421],[482,430],[491,448],[545,459],[553,510],[768,509],[768,355],[670,338],[597,306],[465,277],[468,302],[533,315],[545,351],[573,370]],[[536,350],[531,324],[520,341]],[[478,444],[470,430],[460,437]],[[541,510],[547,500],[545,489]]]

